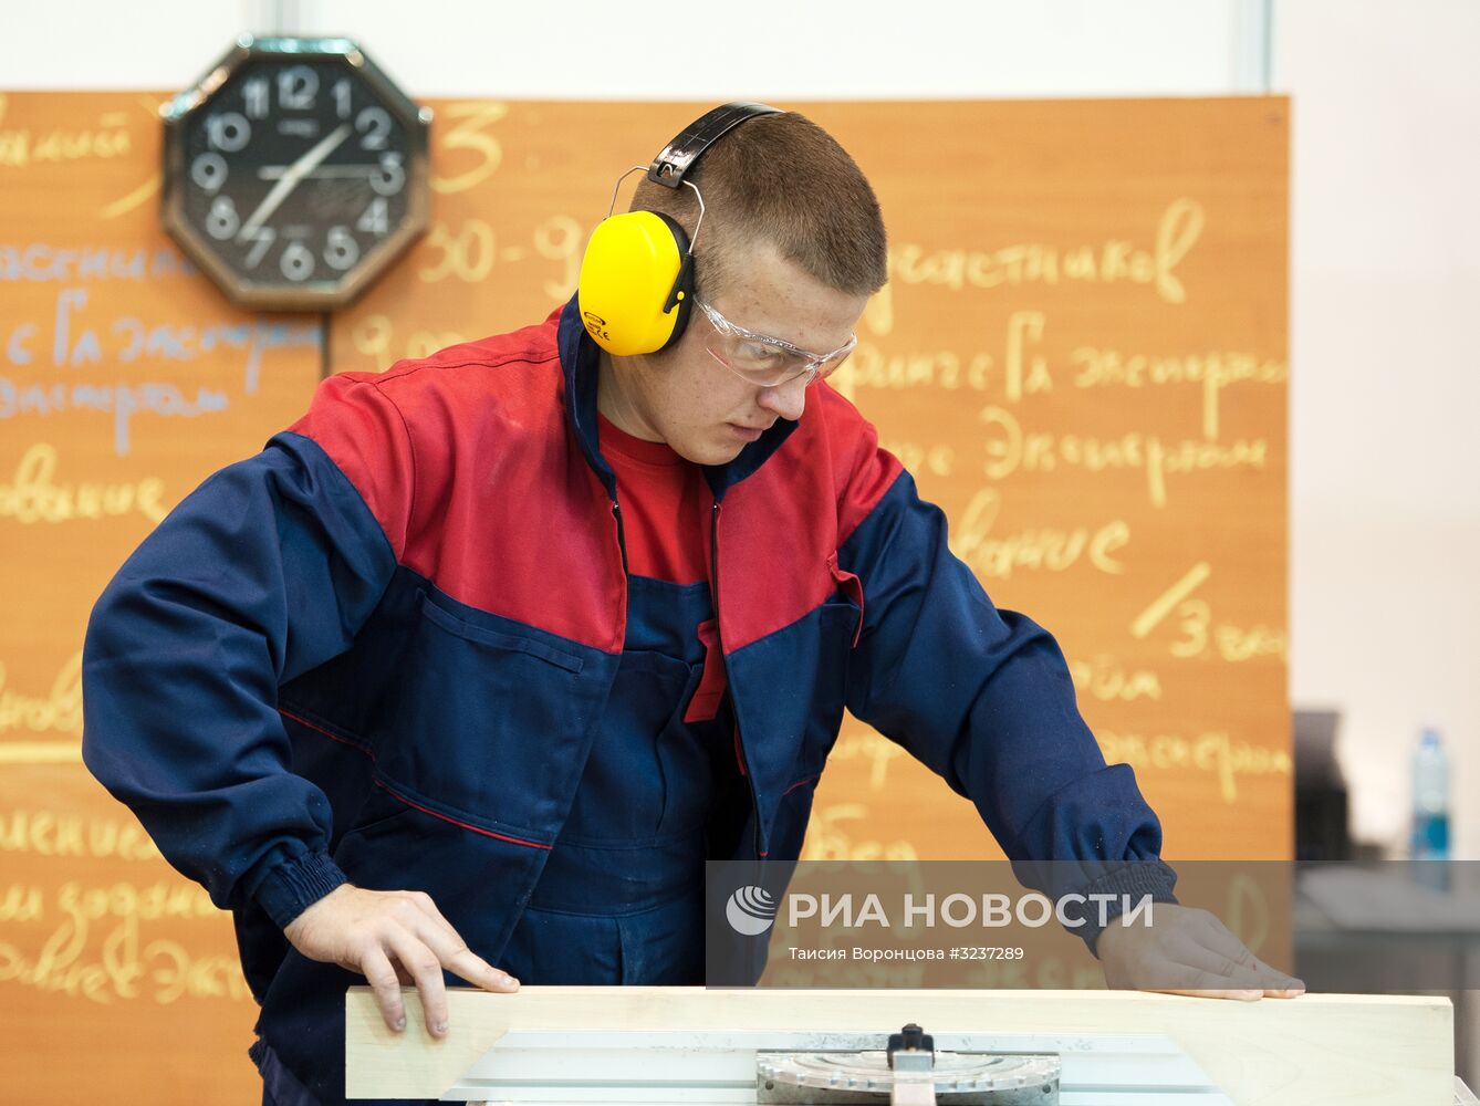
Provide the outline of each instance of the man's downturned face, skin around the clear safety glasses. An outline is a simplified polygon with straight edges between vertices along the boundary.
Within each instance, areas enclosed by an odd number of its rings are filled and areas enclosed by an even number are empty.
[[[784,261],[770,243],[750,249],[737,278],[707,302],[730,321],[802,349],[842,346],[867,296],[838,292]],[[684,336],[647,357],[602,358],[601,412],[628,434],[666,441],[699,465],[733,460],[777,419],[799,419],[805,376],[762,388],[710,355],[713,324],[691,308]]]

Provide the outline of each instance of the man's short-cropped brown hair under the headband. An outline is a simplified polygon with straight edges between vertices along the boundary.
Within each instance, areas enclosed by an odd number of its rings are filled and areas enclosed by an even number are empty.
[[[712,298],[758,240],[827,287],[867,296],[888,280],[879,201],[838,141],[787,111],[746,120],[704,151],[688,178],[704,195],[694,246],[696,293]],[[642,179],[632,210],[662,212],[694,232],[694,190]]]

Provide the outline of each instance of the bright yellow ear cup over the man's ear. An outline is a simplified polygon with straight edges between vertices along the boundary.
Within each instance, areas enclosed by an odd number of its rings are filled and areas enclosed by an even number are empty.
[[[607,352],[654,354],[684,333],[691,286],[682,227],[656,212],[613,215],[592,231],[580,262],[580,320]]]

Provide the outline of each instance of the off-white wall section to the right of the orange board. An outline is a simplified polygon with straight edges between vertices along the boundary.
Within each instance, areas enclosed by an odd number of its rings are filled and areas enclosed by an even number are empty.
[[[1439,725],[1480,859],[1480,4],[1282,0],[1273,43],[1295,104],[1292,694],[1345,711],[1356,823],[1382,841]]]

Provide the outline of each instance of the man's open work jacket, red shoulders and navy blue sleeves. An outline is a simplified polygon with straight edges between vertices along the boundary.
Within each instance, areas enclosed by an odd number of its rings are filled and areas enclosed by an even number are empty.
[[[332,376],[93,610],[84,761],[234,912],[281,1106],[342,1097],[357,982],[281,928],[345,879],[414,888],[497,964],[571,808],[628,617],[596,363],[570,304]],[[1052,637],[992,604],[852,404],[813,385],[801,420],[706,478],[749,791],[716,859],[798,856],[847,708],[969,797],[1009,859],[1169,894],[1169,869],[1113,866],[1154,859],[1160,828]]]

